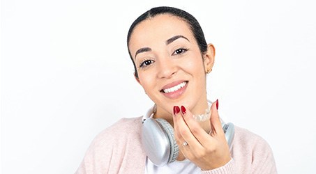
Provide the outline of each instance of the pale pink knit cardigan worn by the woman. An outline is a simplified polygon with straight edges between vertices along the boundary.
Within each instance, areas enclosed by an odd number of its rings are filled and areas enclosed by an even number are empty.
[[[141,144],[142,117],[122,118],[93,140],[76,174],[144,173],[146,154]],[[232,160],[202,173],[277,173],[269,144],[235,126]]]

